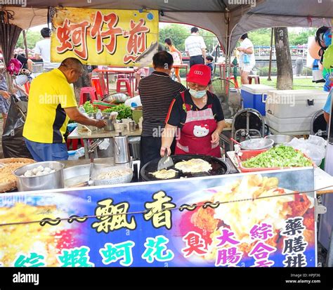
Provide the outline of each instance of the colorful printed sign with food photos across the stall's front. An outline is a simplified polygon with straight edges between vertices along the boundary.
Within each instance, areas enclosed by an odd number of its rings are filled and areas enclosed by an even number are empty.
[[[0,263],[314,267],[313,184],[299,169],[1,195]]]

